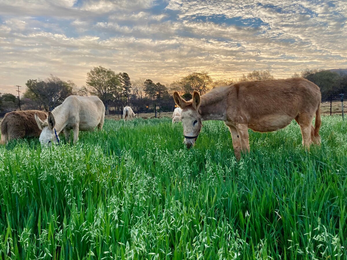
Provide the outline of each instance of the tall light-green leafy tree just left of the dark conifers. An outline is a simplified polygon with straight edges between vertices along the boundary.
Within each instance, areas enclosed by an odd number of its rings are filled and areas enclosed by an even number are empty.
[[[120,85],[119,76],[111,69],[94,67],[87,73],[86,84],[92,88],[92,94],[102,100],[106,114],[109,114],[109,105]]]

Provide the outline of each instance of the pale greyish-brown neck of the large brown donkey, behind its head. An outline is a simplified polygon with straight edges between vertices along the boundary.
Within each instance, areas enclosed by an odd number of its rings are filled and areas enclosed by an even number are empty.
[[[218,87],[201,96],[201,120],[227,120],[227,96],[230,87]]]

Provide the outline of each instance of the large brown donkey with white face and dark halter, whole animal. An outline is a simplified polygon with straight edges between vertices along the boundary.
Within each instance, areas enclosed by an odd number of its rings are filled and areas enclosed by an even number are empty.
[[[237,159],[249,151],[248,128],[271,132],[286,127],[293,119],[300,125],[303,146],[319,145],[321,125],[319,87],[304,78],[243,81],[212,89],[185,101],[174,92],[175,103],[182,109],[184,143],[194,145],[201,121],[222,120],[229,127]],[[312,125],[313,117],[315,127]]]

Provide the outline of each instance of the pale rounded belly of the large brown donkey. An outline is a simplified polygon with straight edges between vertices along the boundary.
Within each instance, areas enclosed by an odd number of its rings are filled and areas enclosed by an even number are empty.
[[[285,128],[293,120],[289,115],[266,115],[252,119],[248,122],[248,128],[257,132],[272,132]]]

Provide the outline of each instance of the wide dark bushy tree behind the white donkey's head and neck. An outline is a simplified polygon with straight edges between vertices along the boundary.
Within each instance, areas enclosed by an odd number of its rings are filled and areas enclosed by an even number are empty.
[[[69,83],[62,81],[52,74],[45,80],[29,79],[25,84],[23,98],[29,98],[36,102],[38,107],[51,111],[72,94],[72,83],[72,81]]]

